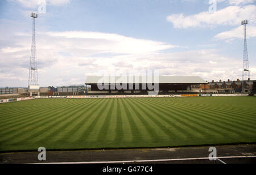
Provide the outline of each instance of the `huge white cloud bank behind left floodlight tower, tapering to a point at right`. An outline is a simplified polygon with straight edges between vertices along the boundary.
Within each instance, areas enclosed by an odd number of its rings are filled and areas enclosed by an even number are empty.
[[[22,80],[27,80],[28,76],[31,34],[22,31],[14,33],[17,33],[15,37],[2,38],[5,44],[0,48],[0,84],[26,86],[27,82]],[[112,71],[115,67],[122,70],[138,69],[142,62],[147,62],[148,57],[155,56],[157,60],[160,51],[174,47],[164,42],[114,33],[38,31],[36,51],[39,83],[41,86],[81,84],[85,74]]]

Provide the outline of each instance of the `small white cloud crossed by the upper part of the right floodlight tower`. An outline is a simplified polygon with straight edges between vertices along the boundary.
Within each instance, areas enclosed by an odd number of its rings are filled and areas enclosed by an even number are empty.
[[[256,37],[256,26],[248,25],[246,27],[246,36],[247,38]],[[218,33],[216,36],[214,36],[214,39],[226,41],[243,39],[243,26],[241,25],[240,27],[234,28],[230,31]]]

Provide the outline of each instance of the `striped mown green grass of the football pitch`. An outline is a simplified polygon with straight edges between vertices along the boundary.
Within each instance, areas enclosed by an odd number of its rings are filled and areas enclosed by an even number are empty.
[[[0,104],[0,151],[256,142],[256,97],[38,99]]]

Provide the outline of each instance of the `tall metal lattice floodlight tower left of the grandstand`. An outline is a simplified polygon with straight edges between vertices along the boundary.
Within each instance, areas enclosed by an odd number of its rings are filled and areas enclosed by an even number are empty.
[[[31,44],[31,54],[30,54],[30,72],[28,75],[28,88],[30,86],[39,85],[38,84],[38,67],[36,63],[36,42],[35,42],[35,19],[38,18],[38,14],[32,12],[32,44]]]

